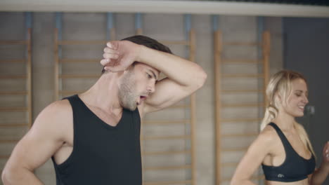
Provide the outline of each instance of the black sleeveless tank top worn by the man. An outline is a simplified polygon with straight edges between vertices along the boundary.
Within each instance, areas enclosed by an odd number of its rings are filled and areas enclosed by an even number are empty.
[[[57,165],[57,185],[142,184],[138,109],[123,109],[122,118],[113,127],[103,122],[74,95],[68,97],[73,111],[73,151]]]

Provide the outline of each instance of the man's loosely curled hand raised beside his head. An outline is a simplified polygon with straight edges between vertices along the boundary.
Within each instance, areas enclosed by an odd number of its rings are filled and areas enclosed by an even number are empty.
[[[140,46],[130,41],[110,41],[104,48],[101,64],[105,70],[124,71],[137,60]]]

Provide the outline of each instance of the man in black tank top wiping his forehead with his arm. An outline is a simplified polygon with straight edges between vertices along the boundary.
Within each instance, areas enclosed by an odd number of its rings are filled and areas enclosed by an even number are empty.
[[[201,88],[198,64],[146,36],[107,43],[104,70],[86,92],[46,107],[15,146],[4,184],[42,184],[34,170],[52,158],[57,184],[142,184],[141,118]],[[160,71],[167,78],[158,81]]]

